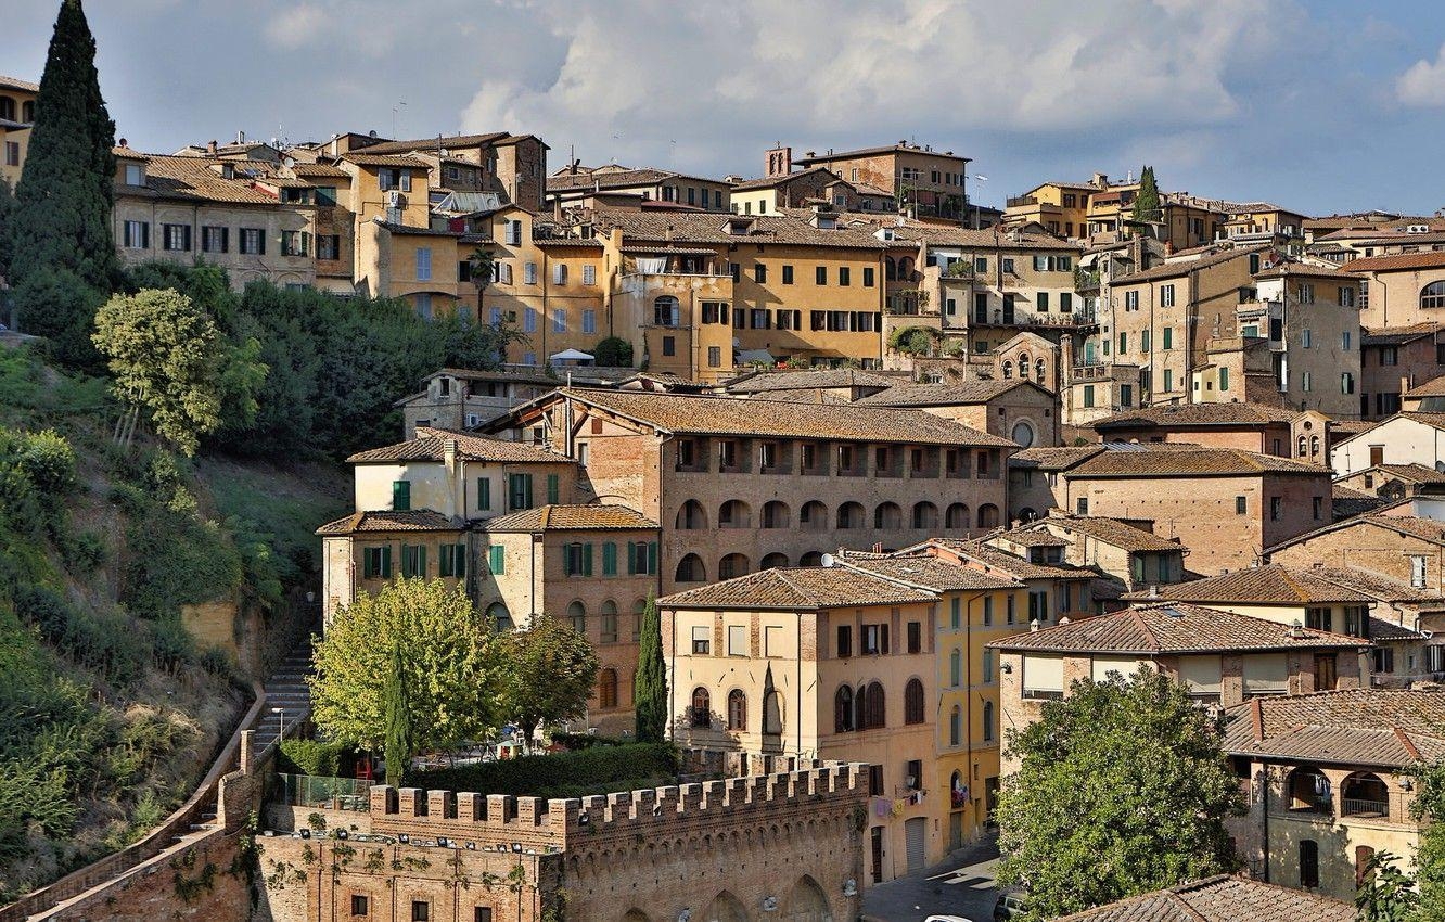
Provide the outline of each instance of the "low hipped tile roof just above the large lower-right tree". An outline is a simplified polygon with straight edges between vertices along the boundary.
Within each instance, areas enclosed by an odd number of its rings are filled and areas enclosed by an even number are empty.
[[[1361,649],[1368,640],[1204,606],[1163,603],[1053,624],[987,645],[1032,653],[1221,653],[1225,650]]]

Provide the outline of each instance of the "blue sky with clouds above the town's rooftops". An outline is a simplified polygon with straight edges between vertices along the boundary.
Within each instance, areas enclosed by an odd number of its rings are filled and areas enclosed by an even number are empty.
[[[0,0],[39,79],[55,0]],[[900,139],[972,158],[1001,205],[1095,172],[1329,214],[1445,208],[1436,0],[90,0],[140,150],[234,139],[532,133],[694,175]]]

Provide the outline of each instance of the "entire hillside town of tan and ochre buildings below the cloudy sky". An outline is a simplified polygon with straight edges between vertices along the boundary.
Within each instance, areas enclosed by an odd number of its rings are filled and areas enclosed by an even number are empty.
[[[0,922],[1436,918],[1357,916],[1445,897],[1432,202],[1078,163],[997,208],[887,139],[698,176],[526,124],[121,136],[77,327],[22,240],[64,78],[0,77],[0,377],[104,386],[0,416],[0,634],[121,701],[79,572],[130,614],[186,582],[137,564],[165,504],[236,562],[139,656],[228,710],[87,851],[104,809],[30,792],[90,769],[0,728]],[[256,458],[344,499],[247,520]]]

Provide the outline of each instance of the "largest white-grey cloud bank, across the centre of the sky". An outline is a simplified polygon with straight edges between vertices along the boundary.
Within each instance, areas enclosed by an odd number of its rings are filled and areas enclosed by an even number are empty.
[[[1113,0],[1082,13],[1062,0],[542,4],[517,14],[565,45],[559,65],[533,79],[486,77],[462,121],[653,162],[682,139],[918,134],[967,147],[981,132],[1196,130],[1240,116],[1230,68],[1257,62],[1296,13],[1287,0]]]

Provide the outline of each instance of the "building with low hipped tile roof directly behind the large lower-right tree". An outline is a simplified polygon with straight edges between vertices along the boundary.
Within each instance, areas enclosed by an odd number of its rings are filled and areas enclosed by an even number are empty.
[[[1360,684],[1368,642],[1185,603],[1124,608],[988,645],[998,652],[1000,704],[1010,727],[1043,717],[1074,682],[1131,676],[1147,665],[1188,684],[1201,704],[1231,707],[1261,695]],[[1004,773],[1017,764],[1004,764]]]

